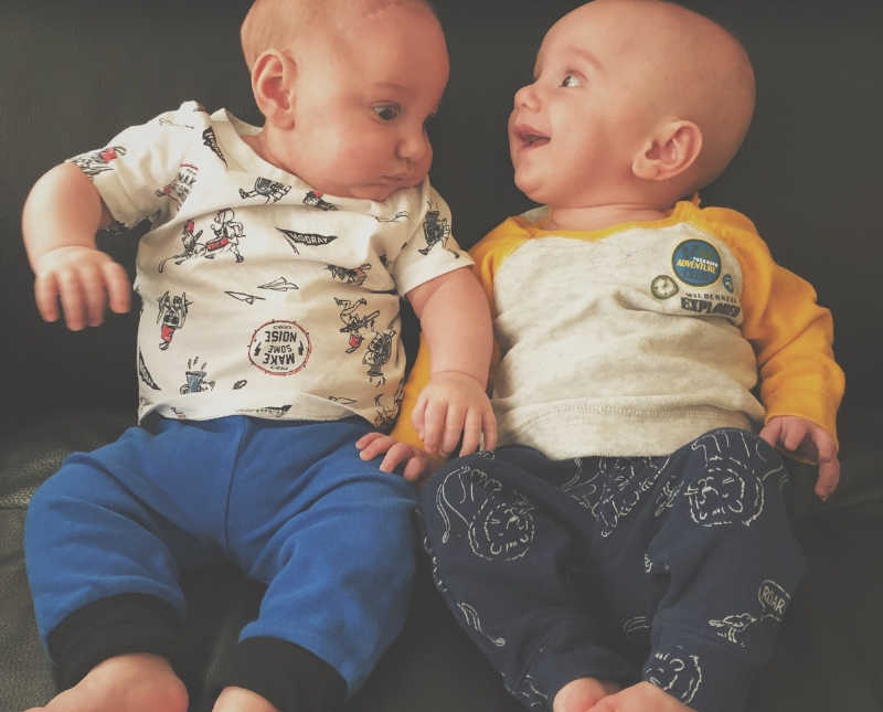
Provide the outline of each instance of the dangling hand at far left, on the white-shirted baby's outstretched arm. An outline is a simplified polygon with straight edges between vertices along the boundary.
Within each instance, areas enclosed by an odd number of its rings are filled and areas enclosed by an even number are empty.
[[[129,310],[131,286],[123,266],[94,247],[71,245],[44,254],[34,266],[34,297],[40,316],[64,320],[72,331],[104,321],[108,304],[117,314]]]

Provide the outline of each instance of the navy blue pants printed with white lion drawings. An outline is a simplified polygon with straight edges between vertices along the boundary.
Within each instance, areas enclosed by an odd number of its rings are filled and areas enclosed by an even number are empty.
[[[436,586],[525,706],[649,681],[743,712],[804,573],[778,454],[737,429],[667,457],[469,456],[421,490]]]

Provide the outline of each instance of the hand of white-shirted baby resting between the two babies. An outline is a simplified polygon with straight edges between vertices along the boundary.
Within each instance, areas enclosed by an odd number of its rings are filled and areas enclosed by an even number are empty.
[[[460,457],[475,453],[485,436],[485,449],[497,446],[497,418],[478,380],[458,371],[434,373],[411,414],[426,451],[447,457],[462,434]]]

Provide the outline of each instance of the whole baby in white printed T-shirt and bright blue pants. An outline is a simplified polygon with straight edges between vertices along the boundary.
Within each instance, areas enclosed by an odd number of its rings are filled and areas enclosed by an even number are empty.
[[[49,712],[184,712],[179,574],[217,559],[267,589],[216,711],[359,689],[414,568],[413,486],[354,447],[400,408],[402,297],[439,353],[425,426],[465,451],[493,438],[487,300],[428,179],[448,77],[428,3],[257,0],[242,39],[262,127],[185,102],[53,168],[24,208],[38,306],[72,329],[129,307],[96,231],[150,222],[140,426],[73,455],[28,512],[64,688]]]

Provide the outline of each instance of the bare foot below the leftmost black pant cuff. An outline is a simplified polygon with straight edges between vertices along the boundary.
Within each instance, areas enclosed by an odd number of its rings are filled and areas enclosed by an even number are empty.
[[[187,712],[188,693],[168,660],[121,655],[99,662],[46,706],[28,712]]]

